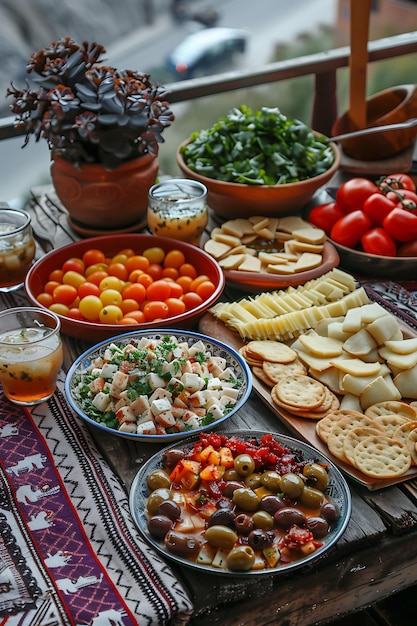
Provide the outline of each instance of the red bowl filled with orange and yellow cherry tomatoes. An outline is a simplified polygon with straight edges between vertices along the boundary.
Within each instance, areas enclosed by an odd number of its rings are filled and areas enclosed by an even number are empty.
[[[25,290],[59,316],[62,332],[94,343],[161,325],[192,328],[224,284],[217,261],[196,246],[119,234],[52,250],[31,267]]]

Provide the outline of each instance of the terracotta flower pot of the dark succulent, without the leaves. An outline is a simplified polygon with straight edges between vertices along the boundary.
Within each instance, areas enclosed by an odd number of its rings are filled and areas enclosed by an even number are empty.
[[[148,190],[156,181],[158,167],[157,159],[149,154],[114,170],[90,163],[76,168],[53,155],[51,177],[72,220],[104,231],[146,219]]]

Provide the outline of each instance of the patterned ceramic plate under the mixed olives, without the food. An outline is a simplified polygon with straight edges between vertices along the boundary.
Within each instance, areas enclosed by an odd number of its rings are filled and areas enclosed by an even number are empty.
[[[254,431],[233,431],[223,432],[222,434],[228,437],[236,435],[240,439],[247,440],[253,439],[254,437],[259,438],[267,433]],[[186,558],[178,557],[168,552],[168,550],[166,550],[164,546],[163,541],[157,541],[150,535],[148,531],[146,507],[149,491],[146,483],[147,477],[152,471],[162,467],[162,458],[166,451],[173,448],[184,448],[185,450],[189,450],[192,448],[193,444],[199,440],[199,437],[192,437],[185,441],[177,442],[175,446],[168,446],[167,448],[164,448],[153,457],[151,457],[136,474],[132,484],[132,489],[130,491],[130,511],[132,513],[134,521],[136,522],[140,532],[145,537],[145,539],[147,539],[147,541],[149,541],[149,543],[158,552],[162,553],[163,556],[177,562],[179,565],[185,565],[187,567],[200,570],[201,572],[210,572],[212,574],[219,574],[221,576],[270,576],[272,574],[283,574],[288,572],[289,570],[303,567],[307,564],[310,564],[312,561],[319,559],[327,550],[329,550],[331,546],[333,546],[340,539],[346,529],[351,514],[351,495],[349,487],[338,468],[329,459],[327,459],[327,457],[325,457],[321,452],[319,452],[312,446],[282,434],[275,433],[273,434],[273,437],[277,442],[279,442],[284,447],[289,448],[291,451],[300,452],[304,459],[318,461],[319,463],[326,463],[329,466],[329,484],[326,490],[326,494],[328,494],[332,502],[334,502],[338,506],[340,511],[340,517],[337,522],[332,526],[328,535],[324,539],[320,540],[323,542],[322,547],[318,548],[312,554],[291,563],[278,563],[277,566],[274,568],[263,570],[250,570],[248,572],[235,572],[226,569],[219,569],[211,565],[200,565],[198,563],[189,561]]]

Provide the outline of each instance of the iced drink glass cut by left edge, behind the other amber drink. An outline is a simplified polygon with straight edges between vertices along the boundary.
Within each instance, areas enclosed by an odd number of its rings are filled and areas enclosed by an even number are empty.
[[[29,213],[0,208],[0,292],[15,291],[23,286],[34,256]]]

